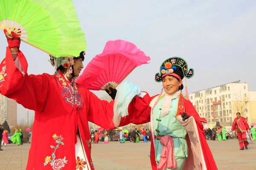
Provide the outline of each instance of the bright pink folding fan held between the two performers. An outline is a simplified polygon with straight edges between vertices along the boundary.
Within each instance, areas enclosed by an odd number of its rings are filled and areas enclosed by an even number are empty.
[[[77,82],[85,85],[89,90],[110,91],[110,87],[116,88],[134,68],[149,61],[150,57],[131,42],[108,41],[102,54],[96,55],[89,62]],[[104,65],[104,68],[93,69],[93,65]]]

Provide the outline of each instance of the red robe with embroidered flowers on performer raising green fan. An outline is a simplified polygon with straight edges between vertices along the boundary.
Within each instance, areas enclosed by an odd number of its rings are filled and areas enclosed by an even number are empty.
[[[61,170],[76,170],[77,127],[87,157],[86,164],[93,170],[88,121],[105,129],[114,128],[113,105],[76,83],[73,83],[73,94],[68,85],[72,83],[61,72],[28,75],[26,58],[21,51],[17,54],[24,75],[16,67],[7,47],[6,58],[0,64],[0,93],[35,111],[33,142],[26,170],[52,170],[53,166],[45,163],[53,157],[63,166]],[[60,144],[54,152],[56,142]]]

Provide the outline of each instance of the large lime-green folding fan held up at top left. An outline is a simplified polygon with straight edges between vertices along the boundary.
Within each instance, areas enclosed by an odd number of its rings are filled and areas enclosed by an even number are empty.
[[[0,0],[0,28],[55,57],[79,56],[87,46],[71,0]]]

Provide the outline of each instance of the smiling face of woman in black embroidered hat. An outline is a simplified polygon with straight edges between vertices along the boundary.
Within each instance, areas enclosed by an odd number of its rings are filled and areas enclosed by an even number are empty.
[[[174,94],[176,91],[179,90],[180,85],[182,85],[182,80],[178,80],[176,77],[173,76],[165,76],[163,78],[163,89],[166,94]]]

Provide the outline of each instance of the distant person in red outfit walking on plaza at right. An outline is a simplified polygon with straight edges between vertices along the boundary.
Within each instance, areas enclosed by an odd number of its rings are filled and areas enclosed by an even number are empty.
[[[248,141],[247,141],[247,136],[246,133],[248,132],[247,130],[250,130],[250,127],[247,123],[247,119],[244,117],[241,117],[241,113],[237,112],[236,113],[236,118],[234,119],[233,125],[232,125],[232,131],[236,130],[238,140],[239,140],[239,147],[240,150],[248,149]]]

